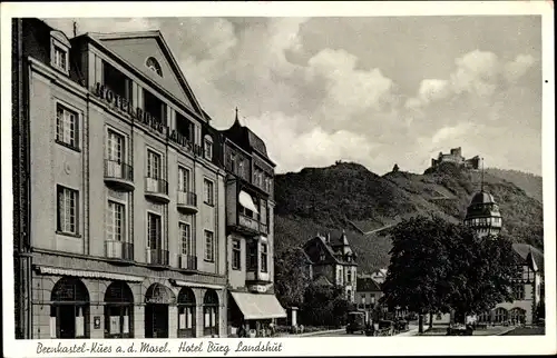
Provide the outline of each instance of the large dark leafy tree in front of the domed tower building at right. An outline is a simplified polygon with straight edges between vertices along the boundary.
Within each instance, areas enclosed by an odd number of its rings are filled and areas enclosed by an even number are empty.
[[[510,299],[516,261],[504,237],[479,238],[440,218],[412,218],[392,230],[383,301],[418,312],[479,314]]]

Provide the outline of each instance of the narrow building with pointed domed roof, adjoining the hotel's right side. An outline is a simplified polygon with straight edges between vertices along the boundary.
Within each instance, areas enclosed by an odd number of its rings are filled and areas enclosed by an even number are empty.
[[[217,146],[226,170],[228,328],[261,331],[286,312],[274,295],[275,163],[265,142],[236,117]]]

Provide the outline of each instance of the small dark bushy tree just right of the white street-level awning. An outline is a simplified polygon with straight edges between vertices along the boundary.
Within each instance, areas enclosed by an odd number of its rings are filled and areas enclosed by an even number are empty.
[[[275,257],[275,294],[283,307],[301,307],[310,284],[307,261],[300,248],[289,248]]]

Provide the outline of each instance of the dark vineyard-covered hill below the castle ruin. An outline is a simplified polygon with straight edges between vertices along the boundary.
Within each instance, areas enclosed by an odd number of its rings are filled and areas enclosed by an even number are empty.
[[[403,218],[437,215],[461,222],[480,173],[442,165],[436,171],[378,176],[361,165],[339,162],[305,168],[275,179],[275,249],[300,246],[317,232],[345,229],[360,270],[389,265],[388,230]],[[504,232],[515,242],[543,249],[541,203],[512,182],[487,172],[485,190],[504,217]]]

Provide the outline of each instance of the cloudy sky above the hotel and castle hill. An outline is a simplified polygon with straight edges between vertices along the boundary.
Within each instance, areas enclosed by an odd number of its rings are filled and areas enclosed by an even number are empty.
[[[462,147],[541,173],[540,17],[45,19],[163,32],[214,126],[234,108],[277,171],[356,161],[422,172]]]

